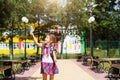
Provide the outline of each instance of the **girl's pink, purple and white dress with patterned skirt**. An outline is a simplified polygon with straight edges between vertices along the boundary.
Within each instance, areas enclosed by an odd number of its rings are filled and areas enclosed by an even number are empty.
[[[52,52],[55,50],[54,46],[43,46],[42,49],[42,61],[41,61],[41,73],[45,74],[57,74],[59,73],[58,67],[54,62]]]

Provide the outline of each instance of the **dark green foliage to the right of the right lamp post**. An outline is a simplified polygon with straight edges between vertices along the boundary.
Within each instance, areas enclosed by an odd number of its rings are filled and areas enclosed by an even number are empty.
[[[96,18],[96,28],[94,28],[94,40],[119,40],[119,10],[115,10],[116,0],[96,1],[98,6],[94,9],[93,14]],[[115,33],[116,32],[116,33]],[[115,34],[114,34],[115,33]]]

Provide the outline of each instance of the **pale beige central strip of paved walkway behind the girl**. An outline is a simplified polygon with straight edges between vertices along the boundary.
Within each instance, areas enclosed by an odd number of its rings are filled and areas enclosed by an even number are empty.
[[[87,72],[83,71],[71,60],[58,60],[59,74],[55,75],[55,80],[95,80]],[[38,69],[32,77],[40,78],[36,80],[42,80]],[[32,80],[32,79],[31,79]]]

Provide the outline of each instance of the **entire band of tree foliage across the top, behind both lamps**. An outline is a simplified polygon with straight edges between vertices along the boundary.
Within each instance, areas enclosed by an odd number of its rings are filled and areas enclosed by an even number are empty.
[[[83,31],[85,39],[89,40],[89,26],[91,25],[93,41],[120,40],[119,0],[67,0],[64,7],[58,5],[59,0],[50,1],[0,0],[0,35],[2,36],[6,31],[9,32],[8,37],[1,37],[0,41],[12,39],[14,36],[28,38],[25,34],[28,33],[27,26],[31,24],[34,24],[34,33],[38,37],[51,28],[55,29],[54,25],[57,24],[65,27],[64,35],[69,33],[80,35]],[[95,22],[89,24],[88,19],[92,15],[95,16]],[[30,24],[21,23],[23,16],[29,19]]]

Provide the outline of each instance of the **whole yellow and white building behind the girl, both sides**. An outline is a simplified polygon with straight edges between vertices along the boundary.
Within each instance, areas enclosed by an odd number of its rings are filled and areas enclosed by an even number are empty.
[[[61,42],[56,43],[56,48],[58,53],[61,51]],[[19,39],[19,37],[13,38],[13,54],[24,53],[25,41]],[[35,46],[33,40],[26,40],[26,50],[27,53],[36,53],[37,46]],[[67,35],[63,43],[63,53],[75,54],[75,53],[84,53],[84,44],[81,42],[81,38],[78,35]],[[9,54],[9,40],[0,43],[0,54]],[[41,53],[41,49],[39,50]]]

